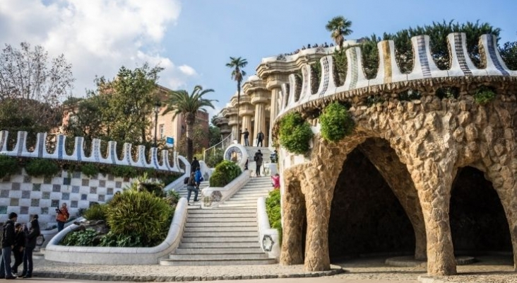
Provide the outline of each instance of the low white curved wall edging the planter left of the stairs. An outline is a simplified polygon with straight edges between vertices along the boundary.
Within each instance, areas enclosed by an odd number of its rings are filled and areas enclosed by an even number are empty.
[[[73,262],[97,265],[155,265],[160,258],[166,257],[179,245],[187,215],[186,198],[182,197],[174,211],[169,233],[165,241],[151,248],[118,248],[118,247],[78,247],[59,246],[64,236],[73,231],[73,224],[57,233],[45,249],[45,260]]]

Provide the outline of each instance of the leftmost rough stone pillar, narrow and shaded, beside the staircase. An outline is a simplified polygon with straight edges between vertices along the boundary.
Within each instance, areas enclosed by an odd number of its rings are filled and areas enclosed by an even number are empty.
[[[297,265],[304,262],[302,233],[305,220],[305,200],[298,179],[300,168],[283,171],[282,195],[282,250],[280,265]],[[303,169],[301,169],[303,170]]]

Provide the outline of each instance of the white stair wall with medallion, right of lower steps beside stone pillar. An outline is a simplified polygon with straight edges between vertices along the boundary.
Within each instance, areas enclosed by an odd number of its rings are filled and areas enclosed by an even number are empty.
[[[258,197],[256,201],[256,215],[258,222],[258,243],[262,251],[270,258],[280,257],[280,236],[277,229],[272,229],[266,211],[266,197]]]

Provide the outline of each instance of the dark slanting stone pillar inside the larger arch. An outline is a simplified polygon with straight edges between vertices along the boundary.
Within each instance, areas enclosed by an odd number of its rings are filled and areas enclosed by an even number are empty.
[[[415,259],[425,260],[427,244],[424,215],[408,167],[400,162],[396,152],[384,139],[368,139],[359,146],[359,149],[381,173],[408,215],[415,233]]]

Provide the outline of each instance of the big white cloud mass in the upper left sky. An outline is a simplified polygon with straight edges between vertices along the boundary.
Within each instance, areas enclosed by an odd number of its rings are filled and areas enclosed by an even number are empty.
[[[186,84],[196,71],[162,57],[167,28],[181,11],[179,0],[0,0],[0,42],[42,45],[52,57],[64,54],[73,65],[75,96],[94,88],[95,75],[111,79],[121,66],[149,62],[165,71],[159,83]]]

